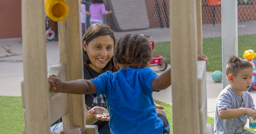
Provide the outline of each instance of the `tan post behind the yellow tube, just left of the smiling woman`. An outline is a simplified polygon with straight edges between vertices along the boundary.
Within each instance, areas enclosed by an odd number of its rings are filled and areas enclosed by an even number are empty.
[[[69,5],[69,15],[59,21],[60,64],[66,66],[66,80],[84,78],[82,57],[82,33],[80,18],[80,1],[66,0]],[[84,95],[68,94],[70,100],[68,114],[63,116],[64,133],[74,134],[74,131],[85,133],[85,101]],[[67,126],[67,127],[65,127]],[[76,126],[76,129],[74,129]],[[81,129],[79,129],[81,128]],[[73,129],[73,130],[72,130]]]

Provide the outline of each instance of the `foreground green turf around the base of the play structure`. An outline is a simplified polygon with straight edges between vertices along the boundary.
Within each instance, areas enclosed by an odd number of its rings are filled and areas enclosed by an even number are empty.
[[[172,105],[154,100],[158,105],[164,106],[170,124],[170,134],[173,133]],[[0,134],[24,134],[24,115],[20,96],[0,96]],[[207,123],[214,124],[214,118],[207,117]],[[255,132],[252,129],[248,129]]]

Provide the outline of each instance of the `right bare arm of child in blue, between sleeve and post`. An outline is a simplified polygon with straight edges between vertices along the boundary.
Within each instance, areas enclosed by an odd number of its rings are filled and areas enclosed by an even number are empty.
[[[153,79],[151,88],[153,90],[163,90],[171,85],[171,68],[168,68],[160,76]]]

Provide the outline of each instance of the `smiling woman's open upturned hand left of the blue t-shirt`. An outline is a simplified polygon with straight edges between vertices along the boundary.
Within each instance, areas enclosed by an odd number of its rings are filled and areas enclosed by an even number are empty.
[[[109,111],[104,107],[95,106],[88,111],[89,114],[93,114],[93,116],[102,121],[109,121]]]

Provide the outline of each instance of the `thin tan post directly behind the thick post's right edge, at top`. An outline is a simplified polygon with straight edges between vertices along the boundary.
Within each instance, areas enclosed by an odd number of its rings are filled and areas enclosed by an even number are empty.
[[[197,53],[203,54],[202,0],[196,0],[197,10]]]

